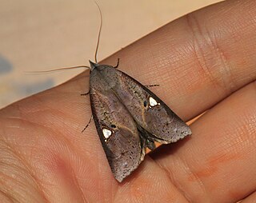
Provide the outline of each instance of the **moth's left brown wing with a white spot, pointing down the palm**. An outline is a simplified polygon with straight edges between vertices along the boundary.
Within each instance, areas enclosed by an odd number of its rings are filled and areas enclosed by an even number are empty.
[[[121,182],[138,167],[145,155],[137,124],[98,74],[90,74],[90,102],[99,138],[114,177]]]

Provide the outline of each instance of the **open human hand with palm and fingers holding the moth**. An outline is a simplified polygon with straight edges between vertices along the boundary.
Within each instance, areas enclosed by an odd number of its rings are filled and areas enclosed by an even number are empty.
[[[151,88],[192,136],[121,184],[90,119],[89,71],[0,111],[2,202],[254,202],[256,4],[226,1],[163,26],[102,64]],[[139,71],[138,71],[139,69]]]

